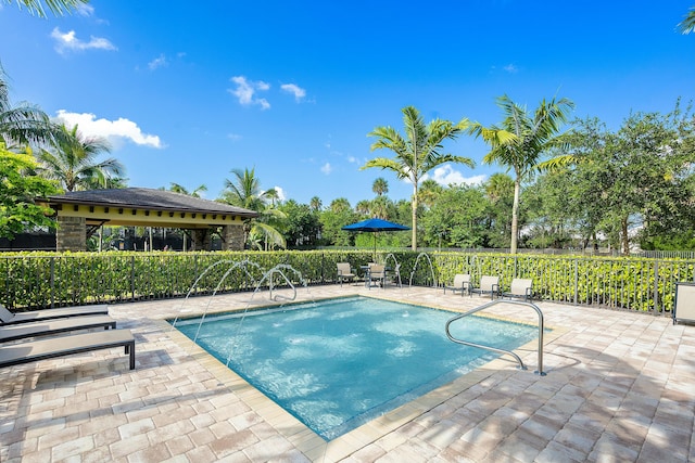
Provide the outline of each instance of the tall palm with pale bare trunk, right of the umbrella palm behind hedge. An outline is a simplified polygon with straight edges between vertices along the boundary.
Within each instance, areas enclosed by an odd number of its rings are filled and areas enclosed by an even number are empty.
[[[514,103],[506,94],[497,99],[497,105],[505,116],[501,126],[483,127],[473,124],[470,132],[482,139],[491,147],[483,157],[483,163],[497,163],[514,170],[514,202],[511,205],[511,254],[517,252],[519,228],[519,194],[521,182],[534,170],[543,167],[570,162],[571,156],[559,156],[541,163],[541,156],[549,149],[558,146],[563,137],[558,133],[560,126],[574,103],[568,99],[543,100],[533,115],[529,115],[526,106]]]

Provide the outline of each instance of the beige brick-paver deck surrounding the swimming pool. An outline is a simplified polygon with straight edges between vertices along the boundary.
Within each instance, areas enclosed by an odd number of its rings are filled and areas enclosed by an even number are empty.
[[[277,293],[277,292],[276,292]],[[441,290],[313,286],[451,310],[489,299]],[[137,365],[121,349],[0,370],[0,461],[572,462],[695,461],[695,326],[622,311],[540,303],[538,343],[326,442],[164,322],[267,304],[258,294],[119,304]],[[491,313],[534,323],[516,306]],[[442,327],[443,330],[443,327]]]

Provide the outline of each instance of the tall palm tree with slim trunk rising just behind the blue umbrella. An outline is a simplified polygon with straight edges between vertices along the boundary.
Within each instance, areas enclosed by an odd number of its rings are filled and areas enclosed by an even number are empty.
[[[442,153],[442,142],[455,139],[469,127],[468,119],[462,119],[454,125],[450,120],[434,119],[425,124],[420,113],[413,106],[402,110],[405,125],[405,138],[391,127],[377,127],[369,137],[378,140],[371,145],[371,151],[389,149],[395,153],[395,158],[377,157],[370,159],[361,169],[380,167],[395,172],[399,179],[408,179],[413,184],[413,250],[417,249],[417,202],[418,185],[422,176],[434,167],[444,163],[460,163],[473,167],[475,163],[464,156]]]

